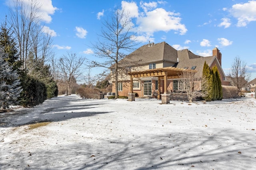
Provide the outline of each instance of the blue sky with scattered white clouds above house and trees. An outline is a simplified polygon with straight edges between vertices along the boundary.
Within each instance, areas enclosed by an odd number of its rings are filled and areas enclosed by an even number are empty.
[[[0,0],[0,22],[8,14]],[[24,0],[25,2],[28,0]],[[226,75],[235,57],[256,78],[256,0],[44,0],[44,27],[53,35],[56,58],[67,51],[94,59],[91,43],[117,6],[130,11],[139,46],[166,41],[177,50],[211,56],[218,47]],[[100,73],[98,69],[93,74]]]

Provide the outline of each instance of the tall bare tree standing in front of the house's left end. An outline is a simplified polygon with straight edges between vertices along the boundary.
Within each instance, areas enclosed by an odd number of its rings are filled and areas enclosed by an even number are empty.
[[[101,61],[93,61],[94,66],[111,69],[110,75],[115,82],[115,98],[118,98],[118,76],[127,67],[119,62],[126,57],[126,53],[133,50],[135,39],[132,33],[130,15],[124,10],[117,9],[103,23],[98,42],[93,44],[95,54]]]

